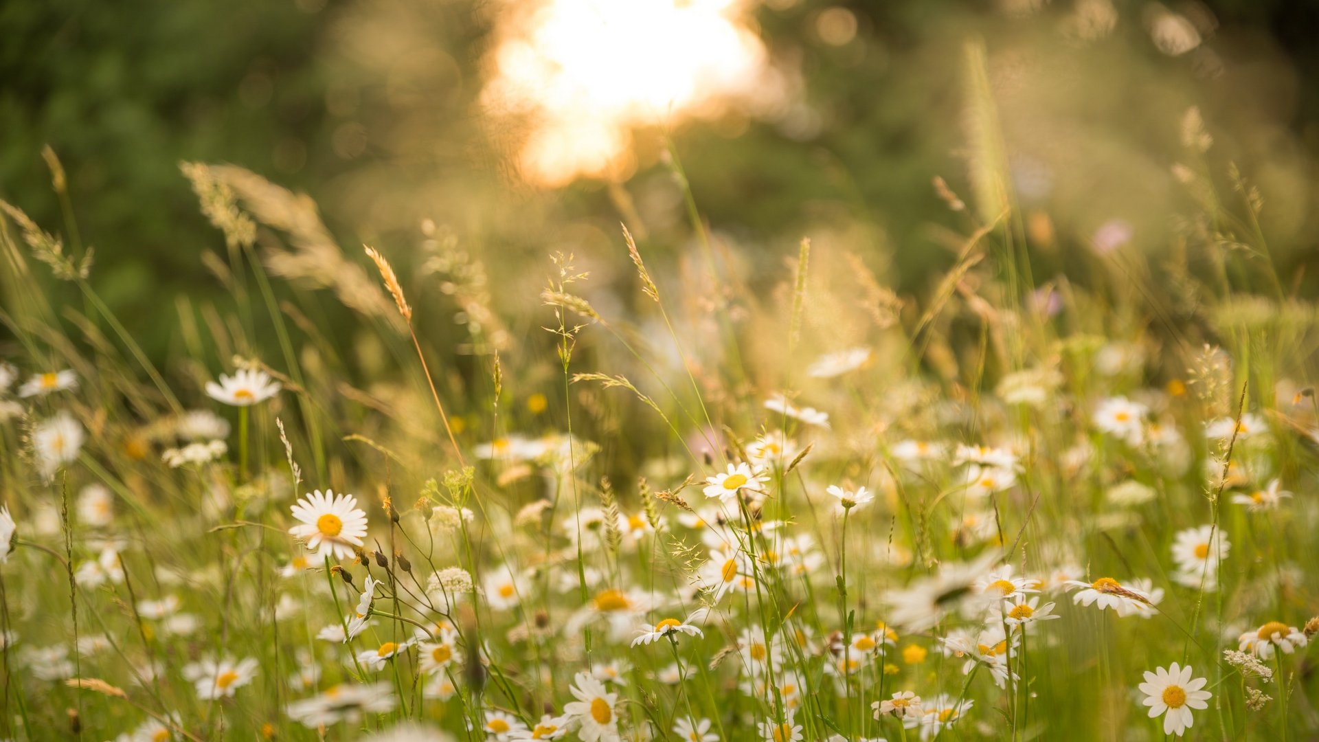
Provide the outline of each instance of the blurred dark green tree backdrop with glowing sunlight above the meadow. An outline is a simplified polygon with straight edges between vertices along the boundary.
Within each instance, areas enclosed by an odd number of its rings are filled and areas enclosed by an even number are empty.
[[[1017,195],[1041,215],[1037,280],[1115,220],[1175,247],[1198,106],[1213,170],[1240,162],[1279,273],[1312,290],[1316,32],[1316,4],[1285,0],[12,1],[0,198],[67,234],[54,148],[94,283],[157,356],[177,342],[158,321],[171,296],[224,296],[183,160],[309,194],[350,259],[368,242],[405,275],[430,219],[487,263],[496,305],[533,308],[551,251],[594,283],[627,276],[620,220],[661,263],[691,247],[671,139],[718,239],[764,257],[749,285],[810,235],[919,292],[964,226],[931,178],[971,201],[980,40]]]

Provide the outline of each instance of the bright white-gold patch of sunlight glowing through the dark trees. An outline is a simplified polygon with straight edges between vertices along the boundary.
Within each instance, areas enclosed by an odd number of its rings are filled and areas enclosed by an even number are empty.
[[[630,129],[714,118],[739,102],[782,98],[748,0],[543,0],[509,5],[499,21],[492,79],[496,116],[529,131],[522,176],[562,185],[619,177],[634,164]]]

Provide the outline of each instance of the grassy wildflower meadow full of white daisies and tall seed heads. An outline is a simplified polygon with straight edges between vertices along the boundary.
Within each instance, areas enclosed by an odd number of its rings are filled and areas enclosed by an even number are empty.
[[[1192,108],[1163,250],[1072,239],[968,58],[914,293],[756,263],[673,143],[683,250],[590,267],[182,162],[226,300],[161,296],[160,363],[96,236],[0,202],[0,737],[1314,738],[1319,313],[1270,194]]]

